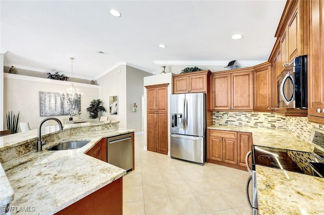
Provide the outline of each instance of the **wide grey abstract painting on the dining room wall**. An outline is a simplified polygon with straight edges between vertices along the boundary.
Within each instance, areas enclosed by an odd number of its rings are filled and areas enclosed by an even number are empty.
[[[39,91],[39,110],[41,117],[64,116],[81,111],[81,98],[73,100],[59,92]]]

